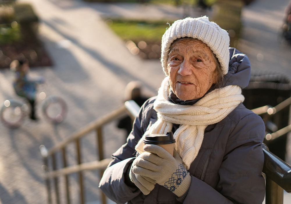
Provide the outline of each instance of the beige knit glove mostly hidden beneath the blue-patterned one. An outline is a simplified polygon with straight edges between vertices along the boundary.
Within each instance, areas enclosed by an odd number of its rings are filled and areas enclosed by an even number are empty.
[[[131,168],[130,168],[130,172],[129,172],[129,177],[130,177],[130,180],[134,182],[136,187],[138,187],[143,194],[148,195],[150,191],[154,189],[156,182],[148,177],[135,174],[133,173],[133,170],[132,170],[133,168],[136,167],[136,162],[140,160],[141,155],[145,153],[148,154],[148,152],[143,152],[138,157],[136,157],[136,159],[133,160]]]

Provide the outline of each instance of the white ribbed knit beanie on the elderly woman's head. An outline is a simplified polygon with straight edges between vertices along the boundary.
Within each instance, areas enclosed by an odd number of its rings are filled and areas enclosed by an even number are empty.
[[[216,55],[223,74],[228,73],[229,63],[229,36],[228,32],[221,29],[216,23],[210,22],[207,16],[199,18],[185,18],[175,21],[169,27],[162,37],[162,67],[166,75],[168,75],[168,55],[169,49],[173,41],[178,38],[196,38],[212,50]]]

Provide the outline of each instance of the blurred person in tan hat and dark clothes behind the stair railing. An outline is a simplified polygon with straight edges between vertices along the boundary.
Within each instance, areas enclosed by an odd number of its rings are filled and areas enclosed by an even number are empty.
[[[137,105],[141,107],[143,103],[148,99],[148,97],[143,96],[141,92],[142,92],[141,82],[138,82],[138,81],[129,82],[125,87],[124,102],[129,101],[129,100],[134,100],[137,103]],[[132,130],[132,124],[133,124],[133,121],[131,117],[125,116],[118,121],[117,127],[120,129],[126,130],[126,138],[127,138],[127,136]]]

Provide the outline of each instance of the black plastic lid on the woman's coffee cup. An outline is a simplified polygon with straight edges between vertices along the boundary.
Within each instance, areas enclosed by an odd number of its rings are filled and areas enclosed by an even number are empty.
[[[167,132],[166,134],[150,134],[146,135],[145,139],[143,139],[143,143],[153,145],[166,145],[175,142],[172,132]]]

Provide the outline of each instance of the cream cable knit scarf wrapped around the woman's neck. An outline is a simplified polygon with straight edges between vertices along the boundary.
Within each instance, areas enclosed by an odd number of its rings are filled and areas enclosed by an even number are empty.
[[[201,147],[207,125],[220,122],[239,103],[244,101],[244,96],[241,94],[242,90],[239,86],[230,85],[213,90],[194,105],[180,105],[168,101],[169,88],[169,77],[167,76],[163,80],[154,102],[158,120],[144,133],[135,149],[139,153],[144,152],[145,135],[165,134],[172,131],[173,123],[180,124],[174,133],[175,150],[188,170]]]

